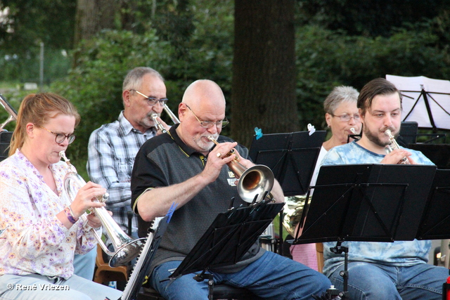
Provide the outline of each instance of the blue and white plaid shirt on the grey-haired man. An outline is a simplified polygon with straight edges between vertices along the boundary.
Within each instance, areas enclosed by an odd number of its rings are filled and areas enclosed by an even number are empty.
[[[117,121],[102,125],[89,138],[87,173],[92,182],[108,190],[110,197],[106,209],[113,211],[113,219],[123,230],[128,227],[127,211],[131,211],[130,181],[134,157],[155,133],[153,127],[146,133],[134,129],[122,111]],[[136,220],[135,216],[133,233],[137,230]]]

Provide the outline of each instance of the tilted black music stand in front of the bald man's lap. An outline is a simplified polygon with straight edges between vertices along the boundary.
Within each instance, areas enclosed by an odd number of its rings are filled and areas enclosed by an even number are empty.
[[[214,282],[207,270],[229,266],[242,259],[274,219],[284,203],[258,202],[249,207],[238,207],[217,215],[203,236],[178,268],[169,276],[176,280],[182,275],[202,271],[195,275],[197,281],[208,280],[210,299]]]

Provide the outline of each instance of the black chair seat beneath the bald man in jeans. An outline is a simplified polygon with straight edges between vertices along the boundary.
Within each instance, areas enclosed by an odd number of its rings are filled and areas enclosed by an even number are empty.
[[[214,285],[212,299],[236,299],[236,300],[264,300],[255,296],[248,289],[243,287],[232,287],[231,285]],[[162,296],[150,287],[144,287],[139,292],[137,300],[165,300]]]

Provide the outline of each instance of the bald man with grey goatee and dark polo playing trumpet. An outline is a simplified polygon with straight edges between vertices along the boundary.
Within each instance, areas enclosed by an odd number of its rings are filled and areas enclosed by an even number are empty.
[[[173,202],[176,211],[162,236],[150,266],[150,285],[165,299],[208,299],[207,282],[193,280],[193,274],[174,281],[170,271],[179,266],[219,213],[248,203],[240,199],[236,178],[226,166],[236,155],[244,167],[248,150],[221,136],[229,123],[226,101],[220,87],[210,80],[198,80],[186,89],[179,105],[180,124],[147,141],[139,150],[131,175],[133,209],[139,214],[139,235],[146,236],[150,221],[167,214]],[[218,141],[215,145],[210,137]],[[226,156],[232,149],[235,154]],[[283,202],[283,190],[276,182],[271,193]],[[245,287],[264,299],[311,299],[330,287],[322,274],[257,243],[238,263],[209,270],[214,283]]]

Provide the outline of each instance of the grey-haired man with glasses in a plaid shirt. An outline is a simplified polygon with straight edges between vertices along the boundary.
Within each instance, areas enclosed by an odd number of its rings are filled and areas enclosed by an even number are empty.
[[[122,100],[124,110],[118,119],[91,133],[86,167],[91,181],[108,190],[110,197],[106,209],[113,211],[113,219],[127,230],[134,157],[143,143],[161,133],[151,116],[157,114],[158,121],[169,130],[159,117],[167,103],[164,79],[150,67],[136,67],[124,79]],[[134,216],[132,235],[135,238],[136,230]]]

